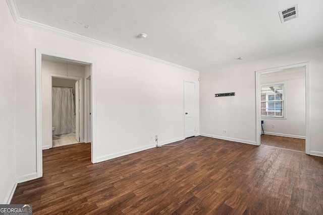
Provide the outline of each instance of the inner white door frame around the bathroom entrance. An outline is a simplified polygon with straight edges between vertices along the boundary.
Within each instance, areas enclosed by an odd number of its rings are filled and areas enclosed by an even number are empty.
[[[80,129],[80,142],[84,140],[84,133],[83,133],[83,78],[82,77],[77,77],[77,76],[64,76],[64,75],[57,75],[57,74],[49,74],[49,113],[50,113],[50,135],[49,135],[49,148],[52,148],[52,78],[60,78],[60,79],[70,79],[70,80],[76,80],[80,81],[80,93],[79,93],[79,98],[80,98],[80,120],[79,120],[79,129]],[[75,89],[76,90],[76,89]],[[85,105],[86,106],[86,105]],[[75,124],[76,125],[76,124]]]

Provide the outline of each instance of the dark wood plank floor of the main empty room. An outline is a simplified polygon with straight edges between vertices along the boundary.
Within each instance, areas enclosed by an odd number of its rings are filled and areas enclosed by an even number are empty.
[[[323,214],[323,158],[192,137],[91,164],[90,145],[43,151],[11,203],[34,214]]]

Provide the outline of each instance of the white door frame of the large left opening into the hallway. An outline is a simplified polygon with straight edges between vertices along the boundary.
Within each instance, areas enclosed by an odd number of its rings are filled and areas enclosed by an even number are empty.
[[[92,106],[92,142],[91,142],[91,162],[97,163],[96,161],[96,61],[88,59],[79,59],[76,57],[66,56],[60,53],[54,53],[51,51],[43,51],[35,49],[35,64],[36,64],[36,171],[37,178],[42,177],[42,89],[41,89],[41,59],[42,55],[48,55],[53,57],[60,57],[67,59],[68,61],[80,62],[91,65],[91,106]]]

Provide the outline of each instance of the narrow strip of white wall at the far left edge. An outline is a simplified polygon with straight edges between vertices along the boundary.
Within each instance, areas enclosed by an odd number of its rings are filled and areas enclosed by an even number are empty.
[[[15,23],[6,1],[0,2],[0,19],[0,204],[4,204],[16,185]]]

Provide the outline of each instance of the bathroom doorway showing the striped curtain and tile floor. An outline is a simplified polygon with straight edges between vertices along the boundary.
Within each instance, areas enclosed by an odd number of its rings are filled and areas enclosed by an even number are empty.
[[[52,147],[83,142],[83,78],[51,74]]]

